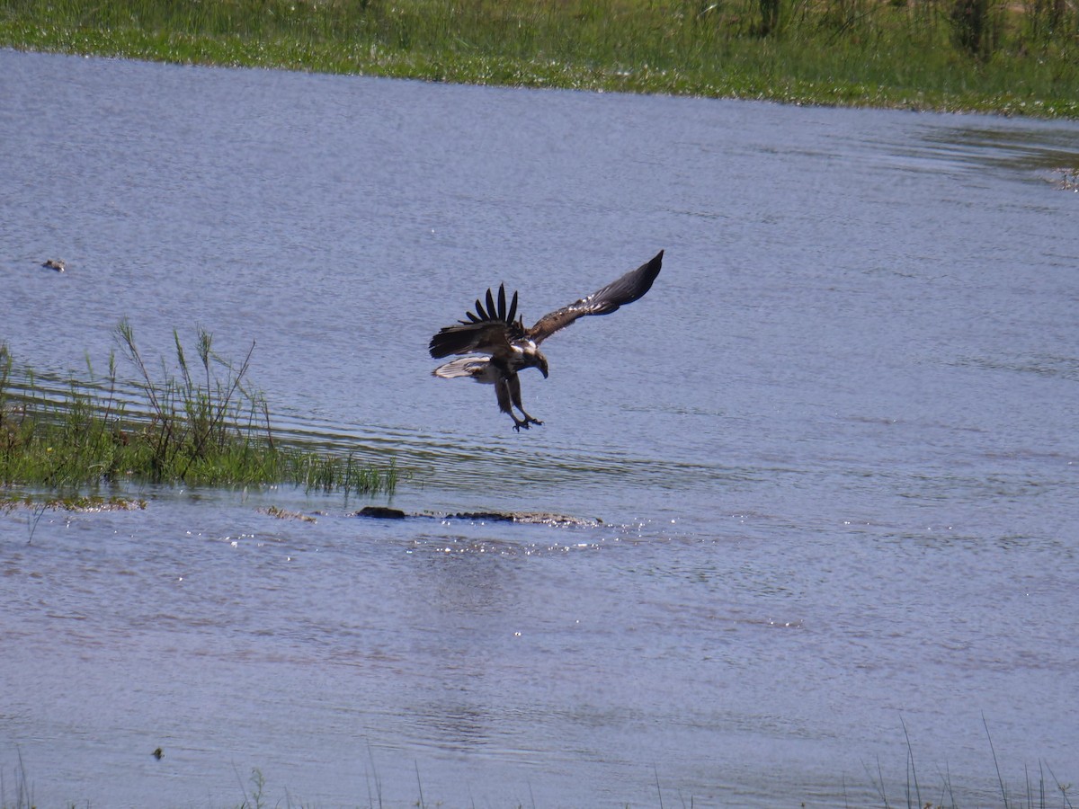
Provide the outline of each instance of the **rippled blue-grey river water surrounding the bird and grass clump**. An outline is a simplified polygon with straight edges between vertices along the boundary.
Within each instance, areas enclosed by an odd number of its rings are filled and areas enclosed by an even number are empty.
[[[603,520],[0,517],[0,803],[21,756],[39,806],[882,806],[910,752],[985,806],[986,724],[1013,797],[1076,783],[1077,165],[1075,123],[0,52],[18,360],[203,326],[398,508]],[[488,286],[531,323],[660,248],[525,374],[542,428],[429,375]]]

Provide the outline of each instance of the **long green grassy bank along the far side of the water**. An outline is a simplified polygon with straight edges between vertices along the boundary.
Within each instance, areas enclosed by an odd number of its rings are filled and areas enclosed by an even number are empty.
[[[1076,0],[5,0],[0,44],[1079,118]]]

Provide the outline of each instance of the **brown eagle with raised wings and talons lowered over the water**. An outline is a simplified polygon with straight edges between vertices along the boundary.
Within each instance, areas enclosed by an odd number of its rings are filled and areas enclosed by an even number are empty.
[[[547,357],[540,352],[540,343],[559,329],[564,329],[578,317],[585,315],[609,315],[619,306],[632,303],[652,288],[659,275],[664,251],[651,261],[641,264],[607,284],[587,298],[574,301],[568,306],[555,310],[541,317],[531,329],[524,327],[523,318],[517,318],[517,292],[506,308],[506,287],[498,286],[498,303],[487,290],[487,306],[477,299],[476,312],[467,313],[467,320],[459,320],[453,326],[439,330],[431,339],[431,356],[435,359],[451,354],[463,356],[439,366],[432,373],[442,379],[470,376],[477,382],[494,385],[498,398],[498,409],[514,420],[514,429],[529,428],[531,424],[543,424],[525,412],[521,406],[521,382],[517,372],[525,368],[538,368],[547,378]],[[479,355],[479,356],[475,356]],[[514,413],[516,407],[523,419]]]

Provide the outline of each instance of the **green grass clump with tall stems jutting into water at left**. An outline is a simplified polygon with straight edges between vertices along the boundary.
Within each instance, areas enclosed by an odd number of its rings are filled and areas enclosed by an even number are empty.
[[[188,485],[293,483],[309,490],[393,492],[393,462],[379,468],[351,454],[314,451],[274,440],[264,397],[245,383],[251,351],[235,368],[213,352],[199,330],[197,365],[188,362],[174,332],[177,371],[162,364],[154,380],[127,323],[117,329],[137,371],[137,396],[118,392],[115,357],[109,374],[68,383],[57,398],[24,371],[15,385],[13,361],[0,345],[0,485],[71,490],[122,479]],[[12,501],[12,502],[17,502]],[[94,504],[91,504],[93,506]]]

